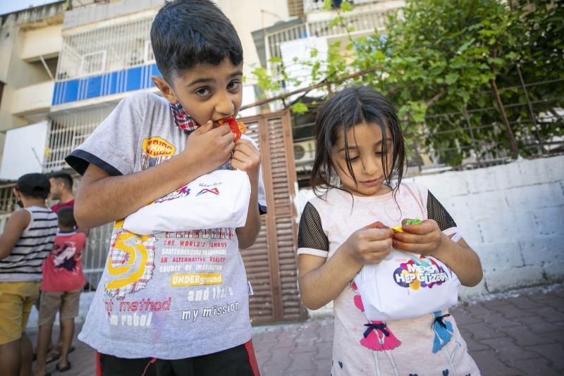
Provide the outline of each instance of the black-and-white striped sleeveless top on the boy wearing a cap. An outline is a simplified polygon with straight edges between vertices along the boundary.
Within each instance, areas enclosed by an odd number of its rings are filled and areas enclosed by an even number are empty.
[[[49,208],[24,208],[31,215],[10,256],[0,260],[0,282],[42,280],[41,265],[53,249],[58,229],[57,215]]]

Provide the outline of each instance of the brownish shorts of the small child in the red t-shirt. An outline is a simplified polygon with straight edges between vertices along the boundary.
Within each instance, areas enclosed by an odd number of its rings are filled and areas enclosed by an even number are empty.
[[[53,325],[57,312],[61,320],[78,316],[80,290],[68,292],[41,292],[37,325]]]

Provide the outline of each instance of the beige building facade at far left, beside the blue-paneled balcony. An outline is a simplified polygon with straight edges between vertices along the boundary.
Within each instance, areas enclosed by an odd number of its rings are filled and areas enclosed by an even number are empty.
[[[0,180],[17,178],[18,169],[42,169],[47,121],[54,89],[54,75],[61,51],[63,1],[0,15],[0,150],[6,154]],[[8,130],[25,127],[34,135],[25,158],[16,154],[26,133]],[[0,211],[11,211],[0,189]],[[11,190],[7,190],[11,197]]]

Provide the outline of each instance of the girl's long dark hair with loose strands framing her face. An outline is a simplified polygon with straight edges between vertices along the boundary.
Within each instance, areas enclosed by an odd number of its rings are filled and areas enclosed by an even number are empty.
[[[333,168],[331,158],[340,134],[345,137],[345,158],[348,172],[358,184],[350,165],[347,132],[350,127],[360,123],[374,123],[380,127],[383,140],[391,138],[391,145],[382,142],[382,165],[386,184],[391,184],[392,177],[397,176],[398,178],[398,185],[393,189],[393,195],[396,196],[406,165],[400,120],[396,108],[388,99],[367,86],[346,87],[319,107],[314,126],[316,153],[311,175],[312,189],[317,196],[321,196],[321,192],[326,189],[340,188],[333,184],[338,175],[336,169]],[[391,170],[388,171],[390,146],[392,163]]]

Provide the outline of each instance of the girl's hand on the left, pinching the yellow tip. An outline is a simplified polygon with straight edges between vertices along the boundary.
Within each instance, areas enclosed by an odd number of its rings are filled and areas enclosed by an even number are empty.
[[[356,263],[377,264],[391,252],[393,234],[393,230],[376,222],[353,232],[343,246]]]

